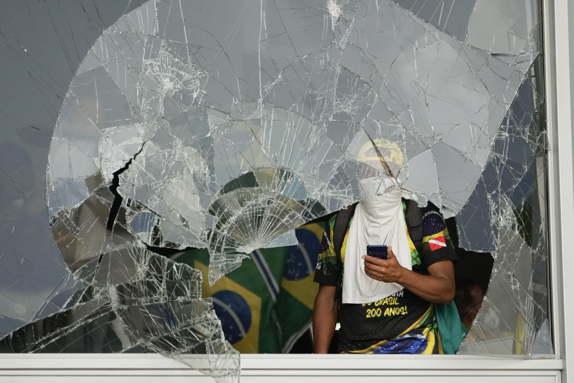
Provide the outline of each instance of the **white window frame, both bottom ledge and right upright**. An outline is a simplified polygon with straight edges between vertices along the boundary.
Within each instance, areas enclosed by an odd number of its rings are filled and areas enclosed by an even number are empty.
[[[230,0],[227,0],[230,1]],[[543,0],[548,157],[550,297],[555,355],[547,358],[476,357],[469,355],[241,355],[242,381],[426,380],[574,383],[574,166],[572,93],[574,79],[574,2]],[[570,8],[570,9],[569,9]],[[557,32],[560,31],[560,32]],[[570,35],[572,34],[572,38]],[[563,241],[564,239],[564,241]],[[565,254],[565,256],[563,256]],[[572,378],[569,379],[569,371]],[[182,363],[149,354],[0,354],[0,382],[170,383],[212,381]],[[461,379],[464,377],[464,379]],[[158,379],[159,378],[159,379]],[[94,380],[95,379],[95,380]],[[510,380],[509,380],[510,379]]]

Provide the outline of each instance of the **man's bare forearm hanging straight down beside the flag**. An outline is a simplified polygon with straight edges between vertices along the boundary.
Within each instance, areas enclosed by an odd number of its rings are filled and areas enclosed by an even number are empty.
[[[316,354],[327,354],[335,326],[337,324],[338,305],[335,294],[317,293],[313,307],[313,343]]]

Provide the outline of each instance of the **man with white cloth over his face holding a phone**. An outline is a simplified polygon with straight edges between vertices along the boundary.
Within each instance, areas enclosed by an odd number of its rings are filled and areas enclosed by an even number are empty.
[[[369,197],[354,206],[346,222],[338,221],[343,210],[333,216],[321,242],[315,353],[327,353],[340,322],[340,353],[442,354],[435,304],[449,304],[455,295],[456,260],[443,217],[433,204],[419,208],[398,185],[403,156],[394,142],[367,142],[359,164]],[[414,204],[422,230],[409,230],[408,204]],[[337,225],[346,226],[341,231]],[[344,234],[333,238],[333,231]],[[367,245],[387,245],[388,259],[366,256]]]

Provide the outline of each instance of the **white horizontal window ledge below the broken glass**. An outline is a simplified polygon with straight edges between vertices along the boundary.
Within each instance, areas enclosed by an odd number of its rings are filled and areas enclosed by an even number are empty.
[[[193,357],[191,359],[201,359]],[[242,383],[560,383],[561,359],[466,355],[241,355]],[[0,354],[0,383],[212,383],[153,354]]]

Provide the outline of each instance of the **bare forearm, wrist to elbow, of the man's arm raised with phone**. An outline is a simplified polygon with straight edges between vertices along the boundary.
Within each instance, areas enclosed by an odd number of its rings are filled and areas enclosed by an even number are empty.
[[[455,296],[452,281],[443,276],[422,275],[404,269],[397,283],[432,303],[450,304]]]

